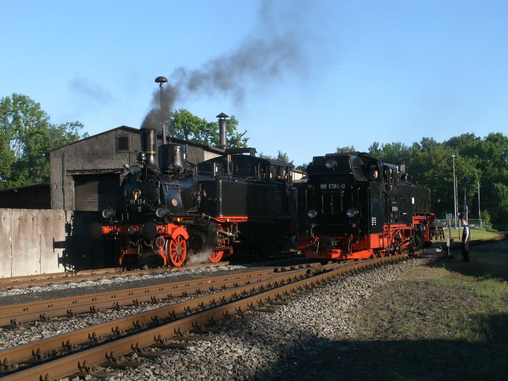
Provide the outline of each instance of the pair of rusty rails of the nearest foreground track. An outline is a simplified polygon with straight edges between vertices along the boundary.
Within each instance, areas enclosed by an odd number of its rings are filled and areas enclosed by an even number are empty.
[[[406,255],[401,255],[377,258],[354,263],[306,268],[291,273],[274,274],[270,279],[243,285],[233,290],[217,292],[191,301],[136,314],[125,319],[41,339],[34,343],[23,344],[0,352],[0,358],[7,359],[3,363],[4,369],[14,363],[30,360],[33,357],[32,353],[51,354],[53,351],[61,351],[62,343],[65,350],[72,352],[77,350],[77,345],[80,343],[101,342],[99,345],[86,349],[79,347],[77,353],[6,374],[1,379],[6,381],[50,380],[76,372],[86,373],[90,371],[91,365],[105,361],[118,361],[120,356],[131,353],[133,348],[135,351],[141,351],[142,348],[150,345],[164,344],[166,339],[174,337],[177,332],[188,331],[194,327],[203,326],[231,314],[250,309],[255,305],[264,304],[272,299],[298,292],[311,283],[321,282],[324,279],[361,267],[392,262],[406,257]],[[251,295],[253,293],[255,294]],[[167,316],[171,321],[153,328],[147,328],[150,324],[162,323],[165,320],[164,316]],[[132,330],[133,325],[141,331],[128,334],[128,330]],[[107,337],[108,335],[109,337]],[[103,341],[106,338],[110,340]],[[9,369],[6,370],[9,371]]]

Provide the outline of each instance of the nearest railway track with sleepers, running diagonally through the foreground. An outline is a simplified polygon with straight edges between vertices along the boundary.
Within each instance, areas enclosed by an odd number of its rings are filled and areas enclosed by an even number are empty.
[[[285,298],[305,290],[311,284],[319,284],[344,272],[406,257],[302,266],[256,275],[241,274],[235,279],[215,279],[206,295],[1,351],[0,379],[52,380],[90,374],[93,365],[104,362],[119,364],[124,355],[133,352],[138,356],[162,356],[175,345],[181,345],[176,342],[183,339],[182,333],[207,331],[204,329],[206,325],[213,326],[219,320],[232,319],[233,315],[244,315],[248,311],[273,310],[279,303],[284,303]],[[199,287],[203,292],[202,285],[192,287]],[[181,285],[177,292],[181,293],[184,289],[185,286]],[[213,328],[208,330],[213,331]]]

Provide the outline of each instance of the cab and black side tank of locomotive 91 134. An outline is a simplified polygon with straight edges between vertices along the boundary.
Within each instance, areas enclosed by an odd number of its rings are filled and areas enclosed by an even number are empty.
[[[202,198],[199,212],[225,225],[241,224],[235,250],[271,257],[296,237],[293,166],[255,156],[253,148],[227,149],[224,156],[198,165]]]

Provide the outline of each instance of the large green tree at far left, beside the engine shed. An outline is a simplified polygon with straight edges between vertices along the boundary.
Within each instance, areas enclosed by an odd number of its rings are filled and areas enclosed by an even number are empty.
[[[79,122],[51,124],[40,103],[22,94],[0,100],[0,180],[3,187],[49,182],[44,153],[81,138]],[[84,134],[83,137],[88,136]]]

